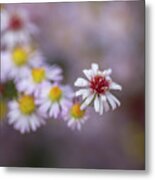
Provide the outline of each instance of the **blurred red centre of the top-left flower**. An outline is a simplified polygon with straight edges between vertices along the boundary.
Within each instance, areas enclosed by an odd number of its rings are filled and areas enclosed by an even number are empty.
[[[14,15],[11,17],[10,19],[10,29],[14,30],[14,31],[17,31],[19,29],[21,29],[23,26],[23,22],[22,20],[20,19],[19,16],[17,15]]]

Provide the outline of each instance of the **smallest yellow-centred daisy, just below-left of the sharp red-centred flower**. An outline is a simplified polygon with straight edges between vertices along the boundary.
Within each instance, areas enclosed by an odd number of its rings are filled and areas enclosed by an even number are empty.
[[[69,109],[69,112],[65,118],[67,120],[67,125],[71,129],[78,129],[81,130],[82,124],[85,123],[85,121],[88,119],[88,116],[86,114],[86,110],[81,110],[80,103],[76,102],[73,103],[72,106]]]

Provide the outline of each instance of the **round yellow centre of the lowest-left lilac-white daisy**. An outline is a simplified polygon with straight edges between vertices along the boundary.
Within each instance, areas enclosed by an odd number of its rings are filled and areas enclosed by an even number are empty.
[[[23,95],[19,99],[19,109],[25,115],[30,115],[35,111],[35,102],[34,98],[29,95]]]

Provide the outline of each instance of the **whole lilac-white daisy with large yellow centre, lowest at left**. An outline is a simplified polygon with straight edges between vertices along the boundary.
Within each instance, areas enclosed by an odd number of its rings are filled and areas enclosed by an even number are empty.
[[[22,134],[36,131],[45,120],[37,111],[37,106],[33,96],[22,95],[18,100],[13,100],[8,104],[8,122],[13,124],[16,130]]]

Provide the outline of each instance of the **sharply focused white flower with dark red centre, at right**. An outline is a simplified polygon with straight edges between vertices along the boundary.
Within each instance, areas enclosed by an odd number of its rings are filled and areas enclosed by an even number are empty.
[[[75,86],[82,87],[76,92],[76,96],[82,96],[82,110],[93,104],[95,111],[102,115],[104,110],[110,109],[109,104],[113,110],[120,106],[120,101],[110,93],[111,90],[122,89],[119,84],[112,81],[111,69],[100,71],[98,65],[93,63],[91,69],[86,69],[83,73],[87,80],[78,78],[75,82]]]

